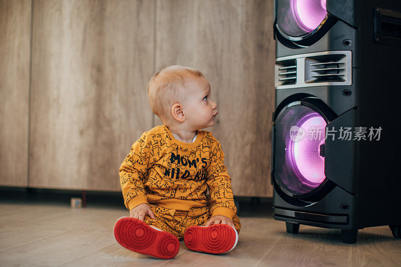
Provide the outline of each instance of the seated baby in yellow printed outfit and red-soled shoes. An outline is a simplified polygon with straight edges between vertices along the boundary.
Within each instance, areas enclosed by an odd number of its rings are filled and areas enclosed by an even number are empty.
[[[200,130],[218,114],[211,93],[192,68],[170,66],[150,79],[149,104],[163,125],[142,134],[119,170],[130,212],[117,220],[114,236],[124,247],[172,258],[178,239],[215,254],[236,246],[241,223],[224,153],[212,133]]]

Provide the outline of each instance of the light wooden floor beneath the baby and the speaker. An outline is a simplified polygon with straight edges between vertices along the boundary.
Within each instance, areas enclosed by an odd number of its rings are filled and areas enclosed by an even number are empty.
[[[242,216],[238,245],[227,254],[189,251],[181,241],[175,258],[155,259],[114,239],[114,222],[127,213],[0,202],[0,266],[401,266],[401,240],[388,227],[362,229],[349,245],[339,230],[301,225],[299,234],[286,233],[269,212]]]

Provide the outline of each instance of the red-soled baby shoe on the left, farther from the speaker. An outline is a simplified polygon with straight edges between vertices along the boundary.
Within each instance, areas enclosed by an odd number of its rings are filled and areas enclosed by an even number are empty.
[[[114,237],[123,247],[157,258],[173,258],[179,250],[177,237],[130,217],[116,221]]]

